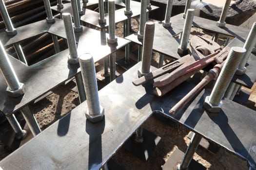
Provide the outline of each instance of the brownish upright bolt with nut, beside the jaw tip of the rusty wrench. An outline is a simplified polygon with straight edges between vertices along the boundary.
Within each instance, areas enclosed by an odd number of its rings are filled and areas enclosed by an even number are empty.
[[[151,72],[150,65],[155,34],[155,23],[152,21],[146,22],[144,33],[142,64],[141,68],[138,70],[138,77],[142,77],[143,75]]]

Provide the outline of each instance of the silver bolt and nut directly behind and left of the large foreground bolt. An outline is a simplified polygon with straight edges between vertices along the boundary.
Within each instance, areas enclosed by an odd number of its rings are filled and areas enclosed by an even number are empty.
[[[76,44],[75,34],[72,26],[71,15],[69,13],[63,13],[62,17],[64,21],[68,48],[69,48],[68,63],[77,64],[79,63],[79,59],[78,59],[77,44]]]

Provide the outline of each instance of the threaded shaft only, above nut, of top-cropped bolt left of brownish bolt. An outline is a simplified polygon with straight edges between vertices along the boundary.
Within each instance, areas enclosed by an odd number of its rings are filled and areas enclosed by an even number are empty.
[[[108,15],[109,15],[109,38],[115,39],[115,0],[108,1]]]

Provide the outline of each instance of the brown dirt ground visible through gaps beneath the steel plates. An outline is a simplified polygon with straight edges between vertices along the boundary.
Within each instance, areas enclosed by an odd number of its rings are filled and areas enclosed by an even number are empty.
[[[132,20],[133,31],[138,31],[138,20]],[[117,35],[122,37],[123,25],[117,24]],[[201,29],[192,29],[192,34],[201,34],[206,37],[211,37],[210,33],[206,33]],[[223,44],[223,42],[220,41]],[[135,50],[137,46],[131,47],[131,51]],[[117,52],[117,59],[123,55],[124,51]],[[131,52],[131,58],[136,59],[136,55]],[[159,54],[153,52],[153,66],[158,64]],[[169,58],[166,57],[165,63],[169,62]],[[97,70],[102,69],[102,62],[97,65]],[[117,67],[118,69],[118,67]],[[122,73],[123,69],[118,69],[119,73]],[[72,88],[76,86],[74,81],[69,82],[67,85],[60,85],[52,90],[52,94],[42,99],[41,101],[31,105],[32,111],[35,114],[36,119],[39,122],[39,126],[42,130],[54,123],[56,120],[69,113],[73,108],[79,105],[78,94],[72,91]],[[252,89],[246,89],[252,91],[250,101],[256,100],[256,85]],[[168,160],[172,152],[178,148],[185,152],[189,144],[190,139],[187,137],[190,130],[180,124],[170,126],[156,117],[150,117],[143,125],[146,130],[153,132],[161,137],[160,142],[149,156],[149,159],[144,162],[137,157],[128,153],[124,149],[120,149],[113,157],[116,163],[118,163],[125,170],[161,170],[161,166]],[[12,151],[7,146],[0,143],[0,159],[7,156]],[[205,166],[207,170],[246,170],[246,161],[238,158],[236,155],[226,151],[224,148],[220,148],[219,151],[214,154],[199,147],[194,159]]]

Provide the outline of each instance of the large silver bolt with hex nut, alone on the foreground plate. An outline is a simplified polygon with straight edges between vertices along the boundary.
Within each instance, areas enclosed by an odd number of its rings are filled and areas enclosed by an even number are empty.
[[[85,89],[88,108],[85,113],[86,119],[98,122],[104,116],[104,109],[99,105],[98,86],[93,56],[85,53],[79,57],[79,64]]]

